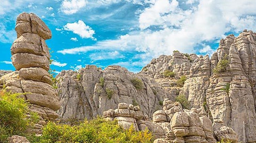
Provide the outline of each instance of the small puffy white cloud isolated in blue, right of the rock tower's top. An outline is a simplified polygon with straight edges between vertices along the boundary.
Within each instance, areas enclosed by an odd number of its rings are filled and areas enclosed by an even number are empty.
[[[90,26],[86,25],[82,20],[78,20],[74,23],[67,23],[64,26],[64,30],[72,31],[75,34],[78,34],[81,38],[91,38],[93,40],[97,40],[93,37],[95,31]]]

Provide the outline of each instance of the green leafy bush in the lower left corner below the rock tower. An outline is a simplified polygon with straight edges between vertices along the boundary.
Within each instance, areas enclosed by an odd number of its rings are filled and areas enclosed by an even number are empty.
[[[25,135],[27,129],[37,122],[38,116],[28,109],[22,94],[0,91],[0,142],[7,143],[12,135]],[[28,118],[27,113],[31,116]]]

